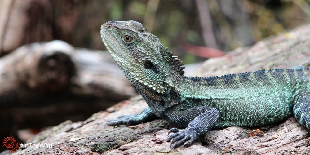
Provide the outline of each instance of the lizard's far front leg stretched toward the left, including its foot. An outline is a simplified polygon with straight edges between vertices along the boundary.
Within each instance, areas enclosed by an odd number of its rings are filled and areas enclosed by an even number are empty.
[[[158,118],[150,109],[150,107],[145,108],[140,114],[133,114],[133,115],[122,115],[118,117],[118,119],[109,120],[106,125],[108,126],[118,126],[125,124],[135,125],[144,122],[149,122],[154,119]]]

